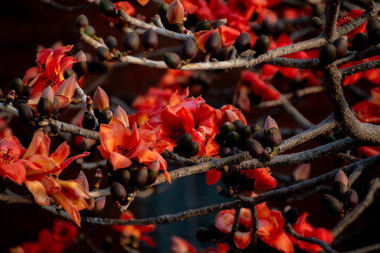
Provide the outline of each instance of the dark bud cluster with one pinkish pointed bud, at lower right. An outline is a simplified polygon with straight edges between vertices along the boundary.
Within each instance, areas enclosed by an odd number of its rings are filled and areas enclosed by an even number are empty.
[[[332,215],[343,217],[359,203],[355,190],[348,186],[346,174],[339,169],[335,176],[333,195],[322,196],[322,207]]]

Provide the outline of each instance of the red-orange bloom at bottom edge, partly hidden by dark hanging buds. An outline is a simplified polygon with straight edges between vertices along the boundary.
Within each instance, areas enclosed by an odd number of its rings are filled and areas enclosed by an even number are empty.
[[[293,244],[282,229],[284,219],[281,212],[270,210],[265,203],[256,205],[258,212],[258,237],[270,247],[274,247],[284,253],[293,253]],[[215,218],[215,227],[222,233],[230,233],[235,219],[235,210],[224,210],[217,214]],[[245,249],[251,242],[253,232],[252,214],[248,208],[240,209],[239,225],[246,228],[246,232],[236,231],[234,233],[234,242],[239,249]]]

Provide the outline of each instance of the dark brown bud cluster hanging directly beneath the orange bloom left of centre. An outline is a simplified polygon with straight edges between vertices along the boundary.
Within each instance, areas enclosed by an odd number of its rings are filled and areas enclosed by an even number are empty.
[[[151,164],[142,164],[132,160],[129,167],[113,170],[112,165],[107,162],[108,183],[114,202],[123,204],[128,202],[127,192],[144,188],[156,182],[160,163],[158,160]]]

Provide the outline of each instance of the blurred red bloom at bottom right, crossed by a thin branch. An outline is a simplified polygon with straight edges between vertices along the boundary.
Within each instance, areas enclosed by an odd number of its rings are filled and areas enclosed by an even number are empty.
[[[323,240],[327,244],[331,243],[334,240],[334,235],[325,228],[313,228],[312,225],[306,221],[307,216],[308,213],[305,212],[298,217],[297,223],[293,224],[294,231],[296,231],[298,235],[306,238],[317,238]],[[297,245],[298,248],[303,249],[306,252],[319,252],[323,250],[322,247],[316,244],[296,240],[296,238],[293,238],[291,235],[289,235],[289,238],[291,238],[291,241]]]

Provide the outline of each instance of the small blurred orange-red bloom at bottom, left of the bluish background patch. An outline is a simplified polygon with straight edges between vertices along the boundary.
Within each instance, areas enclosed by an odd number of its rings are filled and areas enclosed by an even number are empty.
[[[119,219],[129,220],[135,219],[134,214],[129,211],[125,211],[120,214]],[[115,231],[122,233],[122,237],[120,238],[121,245],[132,245],[132,247],[139,247],[140,240],[145,242],[147,245],[151,247],[155,247],[155,242],[149,235],[145,235],[146,233],[150,233],[153,231],[156,226],[155,225],[146,225],[146,226],[112,226]]]

